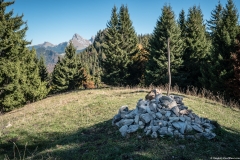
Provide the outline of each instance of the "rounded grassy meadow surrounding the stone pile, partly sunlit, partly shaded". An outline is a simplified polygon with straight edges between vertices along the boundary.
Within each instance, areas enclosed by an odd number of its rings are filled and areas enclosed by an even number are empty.
[[[136,107],[147,90],[82,90],[48,97],[0,116],[0,159],[240,158],[240,112],[182,95],[197,115],[220,125],[213,140],[157,138],[138,131],[123,138],[111,119],[122,105]]]

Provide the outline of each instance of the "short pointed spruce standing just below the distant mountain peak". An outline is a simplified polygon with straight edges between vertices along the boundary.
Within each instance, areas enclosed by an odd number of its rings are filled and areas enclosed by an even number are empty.
[[[65,53],[65,56],[58,60],[53,70],[53,93],[78,89],[86,78],[81,62],[76,58],[76,49],[71,41],[66,47]]]

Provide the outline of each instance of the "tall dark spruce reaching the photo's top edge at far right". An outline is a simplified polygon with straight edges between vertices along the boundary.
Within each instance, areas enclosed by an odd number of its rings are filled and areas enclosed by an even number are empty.
[[[235,37],[239,33],[238,12],[232,0],[228,0],[223,9],[218,4],[212,12],[209,25],[212,26],[213,49],[209,76],[206,76],[205,82],[215,93],[229,94],[231,91],[228,89],[228,81],[234,78],[231,52],[234,52]]]

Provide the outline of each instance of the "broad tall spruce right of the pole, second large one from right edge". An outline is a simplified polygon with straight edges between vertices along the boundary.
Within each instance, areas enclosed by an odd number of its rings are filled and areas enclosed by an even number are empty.
[[[201,87],[200,67],[209,55],[210,44],[207,40],[206,28],[200,7],[189,9],[186,21],[186,50],[184,53],[184,72],[186,86]]]

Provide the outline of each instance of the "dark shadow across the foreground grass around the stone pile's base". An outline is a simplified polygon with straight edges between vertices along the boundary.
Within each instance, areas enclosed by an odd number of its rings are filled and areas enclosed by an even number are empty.
[[[31,159],[209,159],[210,157],[240,157],[240,133],[218,127],[213,140],[180,140],[144,137],[143,131],[123,138],[111,120],[82,128],[74,133],[41,133],[28,136],[26,156]],[[138,138],[142,136],[142,138]],[[2,141],[0,155],[14,158],[13,139]],[[20,155],[25,143],[16,141]],[[16,149],[15,149],[16,150]],[[16,150],[15,157],[20,159]],[[1,157],[2,158],[2,157]],[[23,159],[23,157],[21,157]]]

